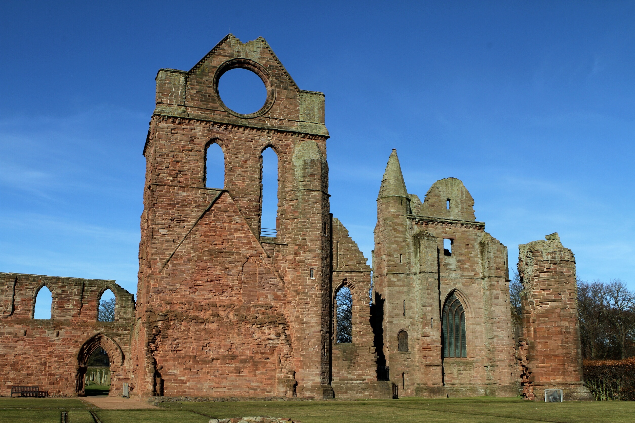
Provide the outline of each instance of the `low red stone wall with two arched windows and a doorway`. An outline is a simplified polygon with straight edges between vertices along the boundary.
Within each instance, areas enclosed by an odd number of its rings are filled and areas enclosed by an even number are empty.
[[[39,290],[51,291],[51,318],[35,319]],[[99,299],[115,295],[114,322],[98,322]],[[84,394],[86,360],[104,348],[112,373],[110,396],[130,382],[132,294],[114,280],[0,273],[0,395],[11,386],[39,386],[53,396]]]

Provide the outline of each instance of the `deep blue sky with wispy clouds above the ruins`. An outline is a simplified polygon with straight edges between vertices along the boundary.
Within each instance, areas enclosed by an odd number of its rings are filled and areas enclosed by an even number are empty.
[[[635,3],[23,1],[0,22],[0,271],[136,294],[154,77],[232,32],[326,94],[331,211],[367,257],[397,148],[410,193],[464,181],[512,266],[558,231],[582,278],[635,289]]]

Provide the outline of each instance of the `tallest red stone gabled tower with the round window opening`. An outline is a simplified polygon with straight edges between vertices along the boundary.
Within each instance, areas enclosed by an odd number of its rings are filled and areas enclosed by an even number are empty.
[[[267,88],[243,115],[234,68]],[[132,394],[330,398],[330,216],[324,95],[298,88],[258,38],[225,37],[161,69],[144,155]],[[225,186],[206,187],[220,145]],[[276,237],[261,236],[262,152],[278,157]]]

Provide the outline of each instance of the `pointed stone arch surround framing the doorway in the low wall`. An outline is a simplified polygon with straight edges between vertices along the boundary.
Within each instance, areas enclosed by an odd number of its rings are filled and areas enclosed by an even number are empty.
[[[121,374],[121,365],[123,365],[123,352],[117,344],[109,337],[103,334],[96,334],[90,337],[88,341],[79,348],[77,353],[77,374],[75,392],[78,396],[84,396],[86,394],[84,390],[84,376],[88,368],[88,358],[97,351],[98,348],[103,348],[106,351],[110,361],[110,372],[112,374],[110,379],[110,394],[113,394],[115,390],[120,391],[121,387],[116,386],[116,375]]]

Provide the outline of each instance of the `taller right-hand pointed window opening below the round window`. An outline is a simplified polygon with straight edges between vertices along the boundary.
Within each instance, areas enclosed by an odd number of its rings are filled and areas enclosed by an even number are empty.
[[[278,223],[278,156],[267,147],[262,152],[260,236],[276,237]]]

